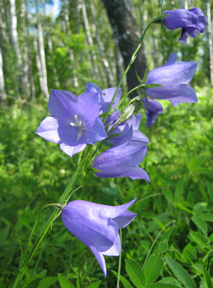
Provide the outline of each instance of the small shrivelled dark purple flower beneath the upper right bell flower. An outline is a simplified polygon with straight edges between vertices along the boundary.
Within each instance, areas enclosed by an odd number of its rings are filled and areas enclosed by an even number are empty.
[[[163,108],[158,101],[148,99],[149,106],[147,105],[145,98],[143,98],[142,101],[144,107],[147,110],[147,112],[145,112],[147,115],[146,126],[147,128],[149,128],[152,126],[152,124],[155,123],[155,120],[158,118],[158,115],[163,113]]]

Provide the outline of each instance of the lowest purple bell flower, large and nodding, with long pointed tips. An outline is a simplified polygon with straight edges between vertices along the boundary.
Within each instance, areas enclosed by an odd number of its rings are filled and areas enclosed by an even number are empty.
[[[103,255],[120,255],[118,229],[126,227],[135,219],[137,214],[127,210],[135,200],[120,206],[75,200],[62,209],[65,227],[91,249],[105,277],[106,265]]]

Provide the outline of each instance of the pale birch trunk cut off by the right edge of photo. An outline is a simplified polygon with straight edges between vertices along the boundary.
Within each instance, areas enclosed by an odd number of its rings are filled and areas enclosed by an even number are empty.
[[[211,7],[210,1],[205,0],[206,4],[206,16],[207,16],[207,24],[206,24],[206,31],[207,31],[207,48],[208,48],[208,59],[209,59],[209,79],[210,83],[213,86],[213,45],[212,45],[212,22],[211,22]]]

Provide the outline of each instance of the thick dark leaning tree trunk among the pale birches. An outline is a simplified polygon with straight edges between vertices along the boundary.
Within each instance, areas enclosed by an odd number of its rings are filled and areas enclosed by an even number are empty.
[[[130,5],[127,0],[102,0],[106,8],[113,33],[117,31],[119,34],[119,48],[124,59],[125,68],[139,45],[140,33],[130,10]],[[139,85],[135,70],[142,79],[146,69],[146,57],[144,53],[143,44],[137,53],[137,58],[131,65],[126,77],[128,90]],[[131,96],[136,96],[136,92]]]

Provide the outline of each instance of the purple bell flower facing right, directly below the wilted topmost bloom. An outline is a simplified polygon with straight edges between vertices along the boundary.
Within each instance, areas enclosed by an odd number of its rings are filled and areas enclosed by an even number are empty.
[[[147,96],[154,99],[169,100],[173,106],[179,103],[195,103],[197,95],[188,84],[197,70],[196,62],[179,62],[173,52],[166,64],[147,73],[146,84],[162,84],[147,88]]]

